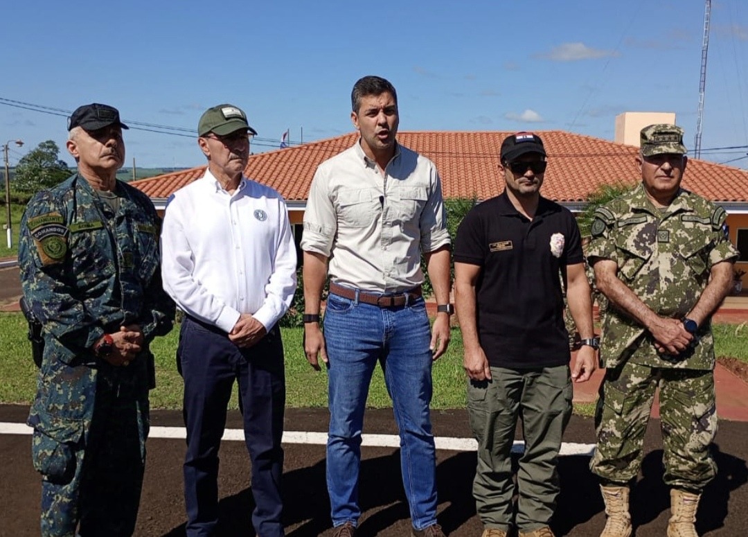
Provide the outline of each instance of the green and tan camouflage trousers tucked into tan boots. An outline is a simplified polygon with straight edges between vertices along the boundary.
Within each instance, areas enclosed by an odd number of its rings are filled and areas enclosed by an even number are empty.
[[[663,480],[671,488],[701,491],[717,474],[710,452],[717,434],[711,370],[664,369],[628,362],[607,369],[595,412],[598,444],[589,467],[605,481],[617,484],[637,476],[658,386]]]

